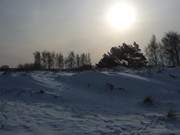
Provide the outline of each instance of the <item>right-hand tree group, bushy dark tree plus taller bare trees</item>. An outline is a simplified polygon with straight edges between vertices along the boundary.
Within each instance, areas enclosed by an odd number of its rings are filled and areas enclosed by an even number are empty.
[[[112,47],[103,55],[97,67],[110,68],[118,65],[128,68],[180,66],[180,34],[168,32],[159,42],[153,35],[144,53],[136,42]]]

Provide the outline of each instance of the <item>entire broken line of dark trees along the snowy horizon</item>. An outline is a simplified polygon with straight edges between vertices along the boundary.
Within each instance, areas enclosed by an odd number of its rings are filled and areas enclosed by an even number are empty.
[[[17,69],[83,70],[92,68],[90,53],[75,54],[71,51],[65,57],[62,53],[35,51],[33,56],[33,63],[20,64]],[[144,52],[136,42],[112,47],[96,64],[96,68],[111,68],[119,65],[127,68],[180,66],[180,34],[174,31],[168,32],[160,41],[153,35]],[[7,68],[8,65],[4,65],[0,70]]]

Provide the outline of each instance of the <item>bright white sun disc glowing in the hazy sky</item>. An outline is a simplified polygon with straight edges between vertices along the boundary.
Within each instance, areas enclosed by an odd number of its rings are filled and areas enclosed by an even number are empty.
[[[130,4],[115,4],[109,9],[107,20],[114,29],[125,30],[134,24],[136,12]]]

